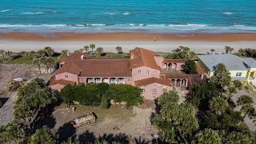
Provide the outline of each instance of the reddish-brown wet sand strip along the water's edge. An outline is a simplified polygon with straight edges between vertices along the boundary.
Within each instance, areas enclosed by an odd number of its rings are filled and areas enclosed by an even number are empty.
[[[0,33],[0,41],[29,41],[29,42],[256,42],[256,33]]]

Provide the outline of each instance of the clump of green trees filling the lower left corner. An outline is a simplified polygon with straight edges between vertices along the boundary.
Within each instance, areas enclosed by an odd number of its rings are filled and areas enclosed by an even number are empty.
[[[56,143],[51,142],[53,133],[49,128],[38,129],[38,122],[46,117],[49,106],[56,100],[54,92],[41,78],[20,87],[14,104],[14,120],[0,126],[0,143]]]

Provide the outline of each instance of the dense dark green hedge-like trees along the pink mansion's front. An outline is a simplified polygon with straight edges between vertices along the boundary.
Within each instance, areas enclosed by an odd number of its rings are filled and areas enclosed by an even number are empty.
[[[110,99],[114,102],[126,102],[126,106],[138,106],[142,103],[141,89],[131,85],[107,83],[89,83],[67,85],[61,90],[64,102],[71,104],[76,101],[87,106],[102,106],[108,108]]]

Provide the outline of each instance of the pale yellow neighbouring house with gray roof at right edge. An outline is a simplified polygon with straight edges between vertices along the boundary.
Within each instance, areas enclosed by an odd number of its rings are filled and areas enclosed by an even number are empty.
[[[230,71],[232,80],[239,80],[256,94],[256,61],[253,58],[240,58],[234,54],[198,55],[198,66],[210,78],[218,63],[223,63]]]

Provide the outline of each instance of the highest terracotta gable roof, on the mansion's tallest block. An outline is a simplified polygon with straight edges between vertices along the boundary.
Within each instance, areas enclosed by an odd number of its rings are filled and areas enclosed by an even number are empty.
[[[155,62],[154,55],[153,51],[143,48],[130,50],[130,69],[146,66],[155,70],[160,70],[160,67]]]

